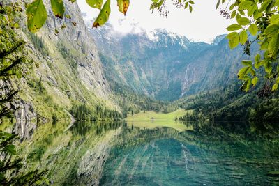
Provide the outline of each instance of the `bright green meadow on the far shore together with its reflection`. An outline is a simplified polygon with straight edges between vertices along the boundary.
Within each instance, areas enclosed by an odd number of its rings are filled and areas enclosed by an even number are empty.
[[[140,127],[153,129],[156,127],[171,127],[179,132],[185,130],[193,130],[193,127],[187,127],[179,121],[175,121],[174,118],[179,118],[186,113],[192,113],[193,110],[177,109],[176,111],[164,114],[155,111],[141,111],[140,113],[128,114],[126,118],[127,125],[130,127]]]

